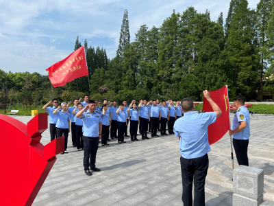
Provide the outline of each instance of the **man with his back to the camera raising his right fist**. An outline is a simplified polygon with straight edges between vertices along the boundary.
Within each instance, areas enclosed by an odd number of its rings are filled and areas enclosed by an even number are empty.
[[[210,98],[210,93],[203,91],[203,96],[210,102],[214,112],[195,113],[195,106],[190,98],[184,98],[181,106],[184,117],[174,124],[175,136],[179,137],[182,171],[182,201],[192,205],[192,184],[194,179],[194,205],[205,205],[205,182],[208,173],[208,126],[216,121],[222,111]]]

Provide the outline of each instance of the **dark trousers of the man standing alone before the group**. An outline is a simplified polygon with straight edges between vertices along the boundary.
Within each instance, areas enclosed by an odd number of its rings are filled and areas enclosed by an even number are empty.
[[[95,168],[99,137],[84,136],[84,170]]]

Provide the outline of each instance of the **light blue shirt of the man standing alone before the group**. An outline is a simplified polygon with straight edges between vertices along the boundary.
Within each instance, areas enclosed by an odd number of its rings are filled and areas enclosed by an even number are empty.
[[[101,116],[97,111],[90,113],[89,110],[83,113],[83,135],[85,137],[99,137],[99,123]]]

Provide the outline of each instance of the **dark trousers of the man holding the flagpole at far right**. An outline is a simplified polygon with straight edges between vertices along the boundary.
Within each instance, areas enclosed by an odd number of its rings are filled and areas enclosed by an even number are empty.
[[[249,139],[233,139],[233,146],[239,165],[249,166],[247,147]]]

